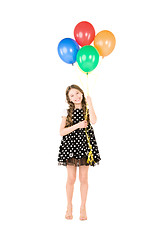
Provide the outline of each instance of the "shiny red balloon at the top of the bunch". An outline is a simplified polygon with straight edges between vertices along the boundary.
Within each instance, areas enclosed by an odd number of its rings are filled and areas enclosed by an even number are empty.
[[[90,45],[95,38],[95,29],[89,22],[80,22],[74,29],[74,37],[80,46]]]

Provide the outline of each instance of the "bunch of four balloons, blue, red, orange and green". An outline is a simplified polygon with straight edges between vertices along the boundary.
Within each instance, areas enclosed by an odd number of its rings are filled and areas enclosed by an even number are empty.
[[[60,58],[68,63],[76,61],[85,73],[93,71],[98,63],[99,56],[108,56],[116,44],[115,36],[108,30],[95,35],[95,29],[89,22],[82,21],[74,29],[74,39],[64,38],[58,44]],[[94,46],[91,43],[94,41]],[[81,47],[80,47],[81,46]]]

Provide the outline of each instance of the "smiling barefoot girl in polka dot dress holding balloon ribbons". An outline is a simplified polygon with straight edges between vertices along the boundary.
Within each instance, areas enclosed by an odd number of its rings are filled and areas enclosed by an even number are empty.
[[[72,219],[72,197],[76,180],[76,169],[79,167],[81,192],[80,220],[87,220],[86,199],[88,192],[88,168],[99,164],[101,160],[94,130],[97,117],[92,105],[91,97],[85,99],[83,90],[77,85],[68,86],[66,100],[69,108],[62,114],[58,165],[67,167],[67,211],[65,218]],[[86,101],[89,109],[87,109]],[[87,118],[85,120],[87,110]],[[87,138],[89,136],[89,140]],[[89,143],[90,142],[90,146]],[[92,153],[94,161],[88,161],[88,154]]]

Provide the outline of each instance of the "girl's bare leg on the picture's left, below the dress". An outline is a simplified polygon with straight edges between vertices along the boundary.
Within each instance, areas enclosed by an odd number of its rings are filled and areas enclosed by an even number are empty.
[[[76,167],[67,165],[67,183],[66,183],[67,217],[66,218],[71,218],[72,216],[72,197],[73,197],[75,180],[76,180]]]

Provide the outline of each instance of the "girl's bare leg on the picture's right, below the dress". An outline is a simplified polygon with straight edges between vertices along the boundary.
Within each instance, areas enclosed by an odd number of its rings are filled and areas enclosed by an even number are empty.
[[[87,200],[87,193],[88,193],[88,169],[89,166],[80,166],[79,167],[79,180],[80,180],[80,192],[81,192],[81,220],[86,220],[86,200]]]

